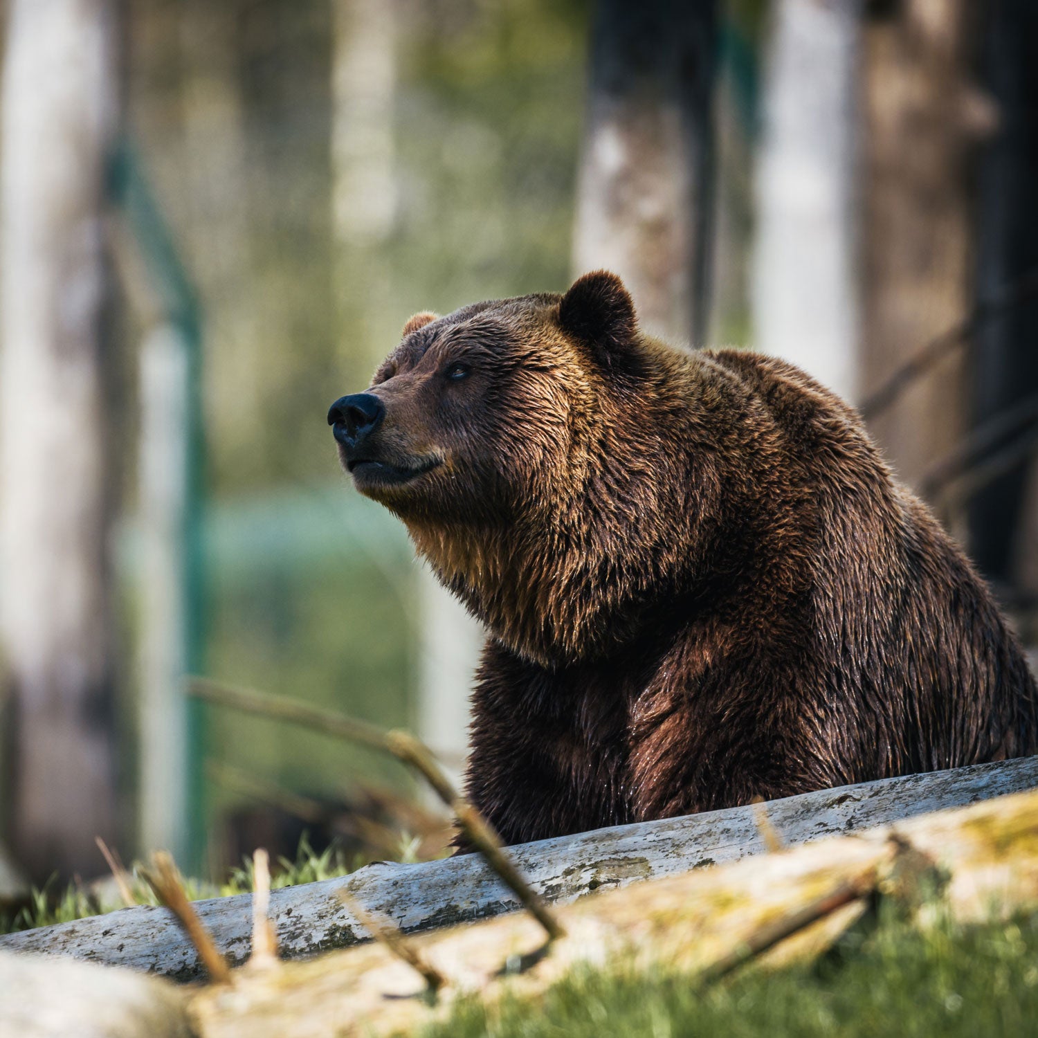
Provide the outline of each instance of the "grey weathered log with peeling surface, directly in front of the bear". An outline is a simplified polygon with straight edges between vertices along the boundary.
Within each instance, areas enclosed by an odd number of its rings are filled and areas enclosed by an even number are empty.
[[[568,903],[600,887],[685,873],[767,850],[761,810],[787,846],[846,835],[916,815],[1038,788],[1038,758],[905,775],[804,793],[760,805],[640,822],[509,849],[547,901]],[[368,939],[338,891],[413,933],[515,911],[518,901],[475,854],[421,865],[376,863],[352,876],[273,891],[270,917],[284,958],[315,955]],[[251,949],[252,897],[195,902],[219,952],[233,965]],[[165,908],[124,908],[107,916],[0,937],[0,948],[72,955],[177,980],[202,975],[197,953]]]

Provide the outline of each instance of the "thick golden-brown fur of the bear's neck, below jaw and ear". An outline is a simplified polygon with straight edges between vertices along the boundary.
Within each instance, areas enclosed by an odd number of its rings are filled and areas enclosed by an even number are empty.
[[[717,481],[681,417],[691,360],[664,356],[637,406],[618,394],[593,409],[567,477],[530,494],[550,507],[497,527],[411,527],[440,581],[521,658],[549,668],[606,658],[658,626],[657,603],[694,598],[709,531],[689,506],[711,514]],[[664,420],[667,435],[655,435]]]

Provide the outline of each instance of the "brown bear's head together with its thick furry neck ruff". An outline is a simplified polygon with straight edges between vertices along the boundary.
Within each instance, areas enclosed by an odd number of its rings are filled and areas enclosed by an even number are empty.
[[[600,271],[565,295],[415,315],[328,421],[356,488],[443,583],[554,665],[629,638],[687,555],[687,473],[665,472],[680,432],[658,432],[661,411],[686,409],[684,381],[681,355],[640,334]]]

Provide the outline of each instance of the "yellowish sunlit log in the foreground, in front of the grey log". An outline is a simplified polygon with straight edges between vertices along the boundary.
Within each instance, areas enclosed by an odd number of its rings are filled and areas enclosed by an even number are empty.
[[[200,1038],[417,1034],[460,994],[530,1000],[575,966],[622,964],[714,983],[750,959],[818,955],[867,910],[874,892],[923,926],[987,922],[1038,903],[1038,792],[917,817],[717,869],[604,892],[557,909],[567,935],[524,972],[542,934],[525,916],[412,938],[443,979],[438,1004],[382,945],[234,975],[190,996]]]

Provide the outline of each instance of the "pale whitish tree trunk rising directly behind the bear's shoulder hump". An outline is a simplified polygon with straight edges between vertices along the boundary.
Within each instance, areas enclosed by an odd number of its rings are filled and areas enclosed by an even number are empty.
[[[755,343],[853,400],[861,3],[787,0],[773,11],[757,171]]]

